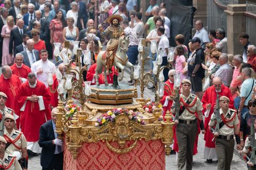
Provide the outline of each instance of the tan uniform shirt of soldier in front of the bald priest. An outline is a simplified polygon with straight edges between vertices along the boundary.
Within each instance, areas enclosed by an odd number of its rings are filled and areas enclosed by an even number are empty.
[[[236,126],[239,124],[239,120],[238,120],[238,117],[237,117],[237,114],[236,114],[236,111],[235,110],[232,110],[233,113],[230,112],[230,109],[228,109],[227,113],[225,114],[225,118],[230,115],[230,118],[234,116],[235,114],[235,118],[230,122],[230,123],[227,123],[228,126]],[[221,115],[223,114],[223,111],[222,109],[220,108],[220,117]],[[211,120],[209,122],[209,126],[214,126],[215,125],[215,114],[213,113],[212,114],[212,117],[211,117]],[[220,121],[222,122],[222,120]],[[230,128],[228,127],[226,124],[223,125],[220,130],[219,130],[219,134],[220,135],[224,135],[224,136],[229,136],[229,135],[234,135],[234,128]]]

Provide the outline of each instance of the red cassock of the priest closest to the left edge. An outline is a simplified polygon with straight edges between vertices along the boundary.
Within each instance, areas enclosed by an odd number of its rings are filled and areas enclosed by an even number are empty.
[[[18,116],[20,107],[17,104],[17,92],[20,85],[19,77],[14,74],[10,79],[5,79],[3,75],[0,77],[0,92],[4,92],[7,95],[5,105],[13,109]]]

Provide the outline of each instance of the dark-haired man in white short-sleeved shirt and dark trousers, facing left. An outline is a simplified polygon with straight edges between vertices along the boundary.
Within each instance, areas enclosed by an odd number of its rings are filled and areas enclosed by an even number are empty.
[[[169,39],[166,37],[166,35],[164,34],[164,27],[159,27],[157,29],[157,35],[160,36],[160,41],[159,41],[159,45],[158,45],[158,50],[163,50],[162,53],[162,64],[161,66],[167,66],[168,62],[167,62],[167,55],[168,55],[168,48],[169,48]],[[157,61],[159,60],[159,55],[157,56]],[[164,68],[163,74],[164,74],[164,82],[167,81],[168,77],[168,69]]]

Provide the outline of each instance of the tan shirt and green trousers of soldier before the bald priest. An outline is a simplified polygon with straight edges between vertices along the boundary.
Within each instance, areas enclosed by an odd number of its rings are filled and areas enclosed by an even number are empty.
[[[218,157],[218,169],[230,169],[231,161],[234,152],[234,126],[239,124],[236,111],[228,109],[227,113],[223,113],[220,109],[220,129],[219,136],[216,139],[216,153]],[[216,122],[215,113],[212,114],[209,126],[215,126]],[[222,123],[223,122],[223,123]]]

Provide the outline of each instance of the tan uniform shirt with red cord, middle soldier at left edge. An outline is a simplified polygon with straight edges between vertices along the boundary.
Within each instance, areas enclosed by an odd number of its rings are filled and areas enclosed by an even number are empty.
[[[27,148],[27,140],[22,132],[15,129],[9,134],[6,129],[4,129],[4,138],[10,144],[5,152],[15,155],[17,159],[21,158],[21,148]]]

